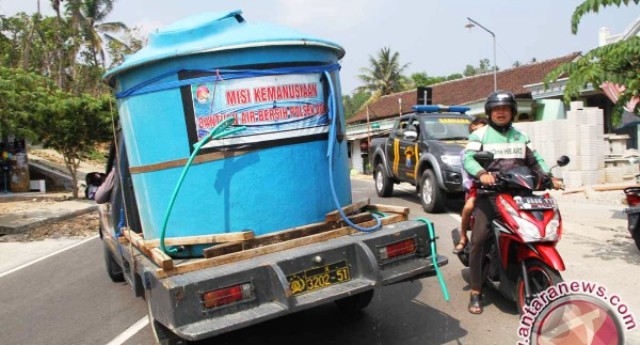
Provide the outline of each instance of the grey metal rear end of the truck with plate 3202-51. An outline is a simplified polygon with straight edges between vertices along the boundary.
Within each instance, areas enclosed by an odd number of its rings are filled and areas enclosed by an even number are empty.
[[[216,267],[166,275],[141,260],[151,315],[200,340],[374,288],[435,275],[425,224],[404,221]],[[448,263],[437,256],[437,265]]]

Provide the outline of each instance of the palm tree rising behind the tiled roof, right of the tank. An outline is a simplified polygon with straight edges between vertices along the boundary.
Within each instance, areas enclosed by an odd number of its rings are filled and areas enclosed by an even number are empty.
[[[389,47],[380,49],[376,58],[369,55],[369,68],[361,68],[358,77],[365,85],[358,91],[371,91],[376,97],[403,91],[407,78],[402,75],[409,64],[400,65],[400,54]]]

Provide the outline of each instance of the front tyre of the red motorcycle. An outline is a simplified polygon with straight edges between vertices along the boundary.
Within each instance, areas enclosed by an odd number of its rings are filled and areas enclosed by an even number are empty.
[[[527,261],[526,266],[527,275],[529,276],[529,288],[533,295],[564,281],[558,271],[538,259]],[[519,276],[516,282],[516,303],[518,304],[518,312],[522,316],[526,306],[524,279],[522,279],[522,276]]]

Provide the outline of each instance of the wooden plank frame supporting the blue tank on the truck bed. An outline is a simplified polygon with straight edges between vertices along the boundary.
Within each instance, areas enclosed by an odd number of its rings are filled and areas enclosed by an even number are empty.
[[[362,227],[371,227],[376,224],[372,212],[385,214],[381,219],[383,225],[407,220],[409,216],[409,209],[406,207],[370,205],[368,200],[345,206],[343,207],[343,212],[348,215],[351,222]],[[156,274],[159,278],[246,260],[259,255],[275,253],[312,243],[324,242],[357,232],[357,230],[345,224],[336,210],[328,213],[324,222],[262,236],[253,236],[253,232],[243,231],[233,234],[166,238],[165,244],[169,246],[216,243],[203,251],[204,258],[202,259],[178,260],[172,259],[163,253],[160,248],[157,248],[159,240],[145,241],[139,234],[123,229],[127,241],[158,265],[159,268]]]

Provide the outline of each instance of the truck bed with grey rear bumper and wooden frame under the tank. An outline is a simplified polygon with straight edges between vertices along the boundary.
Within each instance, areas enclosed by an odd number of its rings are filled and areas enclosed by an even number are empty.
[[[425,224],[407,220],[408,209],[359,206],[352,206],[351,219],[371,226],[370,211],[385,210],[384,226],[358,232],[329,214],[325,222],[213,246],[205,251],[208,258],[168,258],[171,263],[140,247],[145,242],[132,232],[125,230],[119,243],[125,260],[135,258],[133,271],[141,277],[153,319],[181,338],[199,340],[435,273],[432,239]],[[390,255],[382,248],[398,243],[415,248],[385,259]],[[436,262],[445,265],[447,258],[437,256]],[[326,280],[315,284],[318,277]],[[207,292],[235,286],[246,298],[207,306]]]

